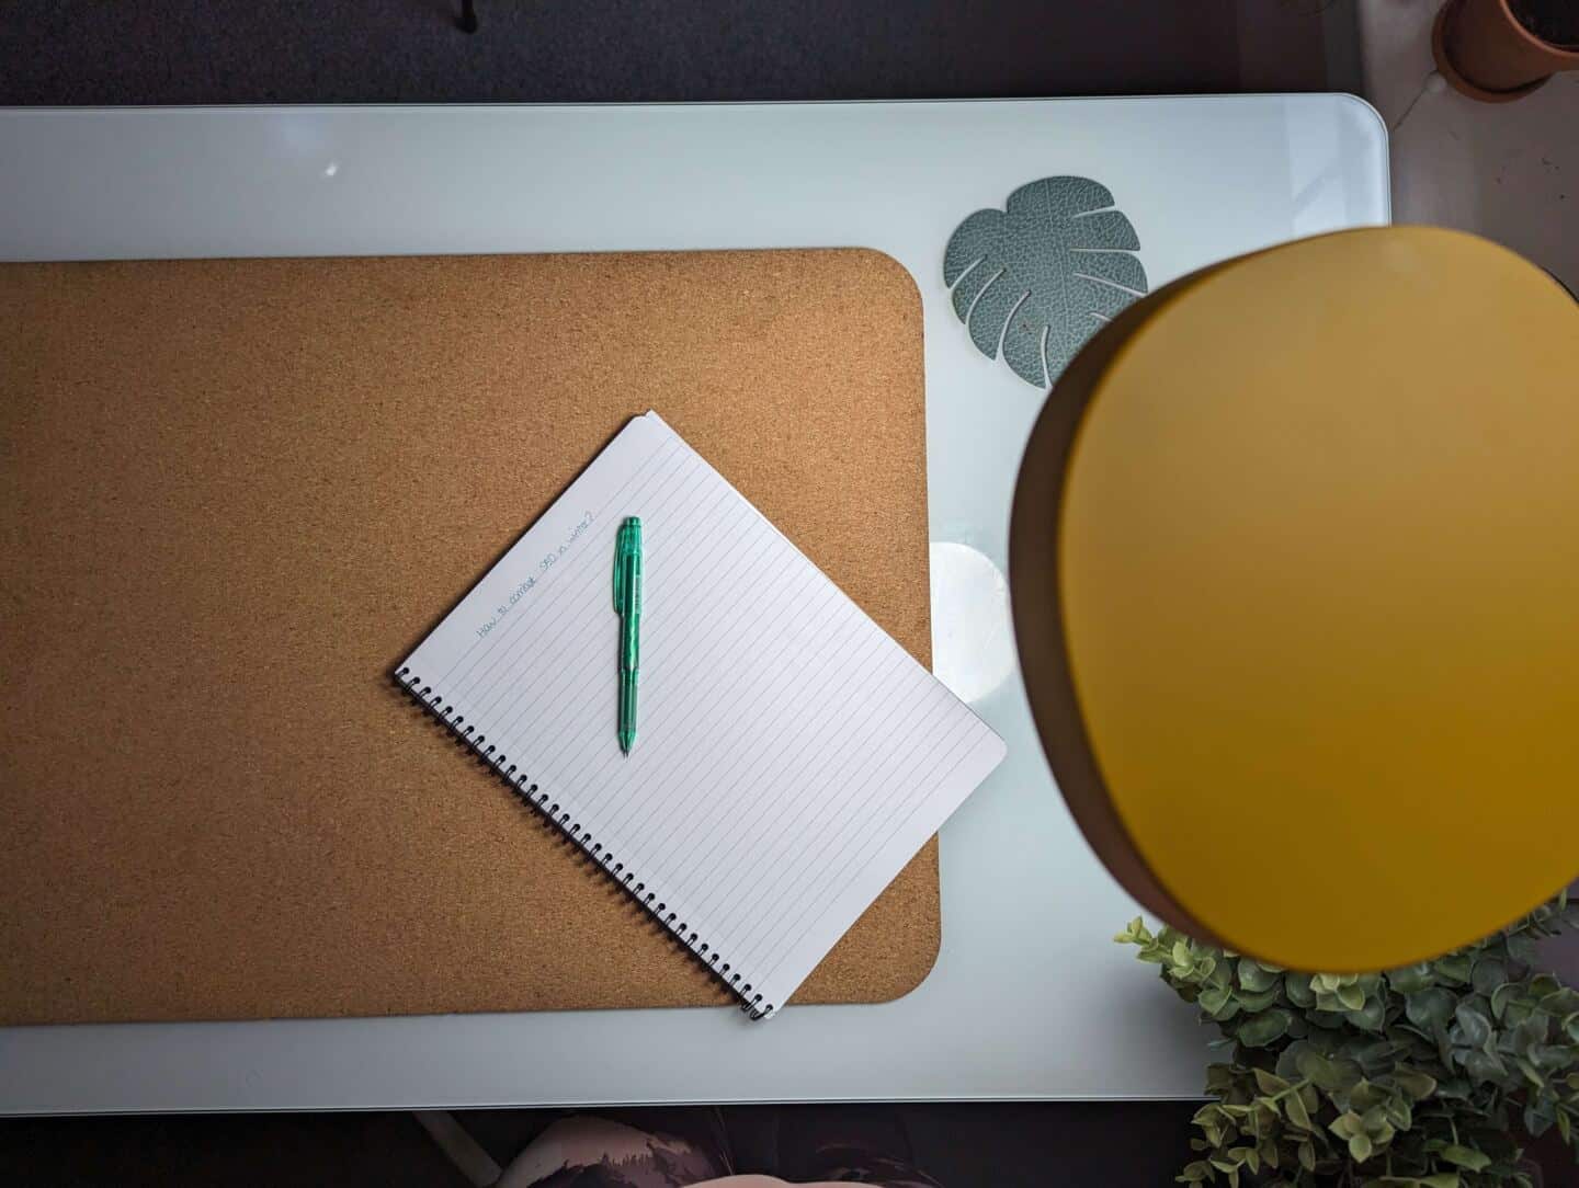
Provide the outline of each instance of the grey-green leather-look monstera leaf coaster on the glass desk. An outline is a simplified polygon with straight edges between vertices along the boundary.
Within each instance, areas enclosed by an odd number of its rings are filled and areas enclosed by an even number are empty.
[[[1048,387],[1091,334],[1146,292],[1140,238],[1107,186],[1044,177],[949,237],[943,281],[987,358]]]

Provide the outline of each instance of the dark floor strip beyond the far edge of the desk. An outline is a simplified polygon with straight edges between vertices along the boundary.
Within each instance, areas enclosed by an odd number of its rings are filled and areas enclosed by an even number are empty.
[[[0,104],[1358,90],[1353,0],[5,0]]]

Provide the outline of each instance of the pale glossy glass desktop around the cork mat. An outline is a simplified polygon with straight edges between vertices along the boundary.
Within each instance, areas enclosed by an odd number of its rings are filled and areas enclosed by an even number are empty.
[[[949,233],[1090,177],[1151,286],[1388,219],[1386,133],[1347,96],[695,107],[0,112],[0,257],[867,246],[925,306],[935,666],[1009,743],[943,833],[943,950],[881,1007],[0,1030],[0,1111],[1183,1096],[1205,1035],[1108,937],[1134,904],[1031,727],[1003,582],[1042,393],[943,282]],[[529,399],[526,394],[523,399]]]

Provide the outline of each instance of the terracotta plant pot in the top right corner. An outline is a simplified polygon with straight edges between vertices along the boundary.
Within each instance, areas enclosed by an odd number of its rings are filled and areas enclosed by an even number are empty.
[[[1552,74],[1579,69],[1579,46],[1555,46],[1519,24],[1508,0],[1448,0],[1432,35],[1437,69],[1475,99],[1505,103]]]

